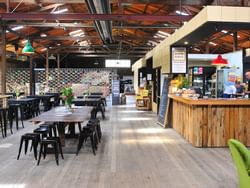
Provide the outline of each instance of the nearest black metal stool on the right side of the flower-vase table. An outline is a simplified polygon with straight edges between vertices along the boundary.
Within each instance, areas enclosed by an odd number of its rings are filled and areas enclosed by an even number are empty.
[[[88,138],[90,138],[92,152],[95,155],[95,151],[97,149],[96,133],[94,129],[92,129],[90,126],[83,127],[79,134],[79,141],[77,145],[76,155],[78,155],[80,149],[82,148],[83,142],[86,142]]]

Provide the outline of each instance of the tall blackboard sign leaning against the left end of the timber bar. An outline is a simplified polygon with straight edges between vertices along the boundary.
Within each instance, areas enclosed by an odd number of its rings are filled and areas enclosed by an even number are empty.
[[[167,104],[168,104],[168,86],[171,79],[164,77],[163,86],[162,86],[162,94],[160,100],[159,114],[158,114],[158,122],[165,127],[165,116],[167,112]]]

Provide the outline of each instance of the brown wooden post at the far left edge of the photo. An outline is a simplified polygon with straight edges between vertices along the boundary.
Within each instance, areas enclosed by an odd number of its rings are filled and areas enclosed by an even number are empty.
[[[2,65],[1,65],[1,93],[6,93],[6,28],[1,27],[1,50],[2,50]]]

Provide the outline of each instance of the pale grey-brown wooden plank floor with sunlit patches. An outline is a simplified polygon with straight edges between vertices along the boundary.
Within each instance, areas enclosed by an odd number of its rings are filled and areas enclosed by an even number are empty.
[[[103,138],[94,156],[90,147],[65,154],[57,166],[52,154],[36,166],[33,153],[16,160],[25,128],[0,138],[0,188],[236,188],[228,148],[194,148],[173,129],[156,124],[152,112],[134,104],[109,107]]]

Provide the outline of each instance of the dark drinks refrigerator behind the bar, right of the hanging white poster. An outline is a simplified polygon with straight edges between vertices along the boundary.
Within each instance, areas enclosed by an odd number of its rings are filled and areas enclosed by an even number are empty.
[[[212,75],[215,74],[216,67],[195,66],[189,68],[190,86],[199,93],[200,96],[211,97]]]

